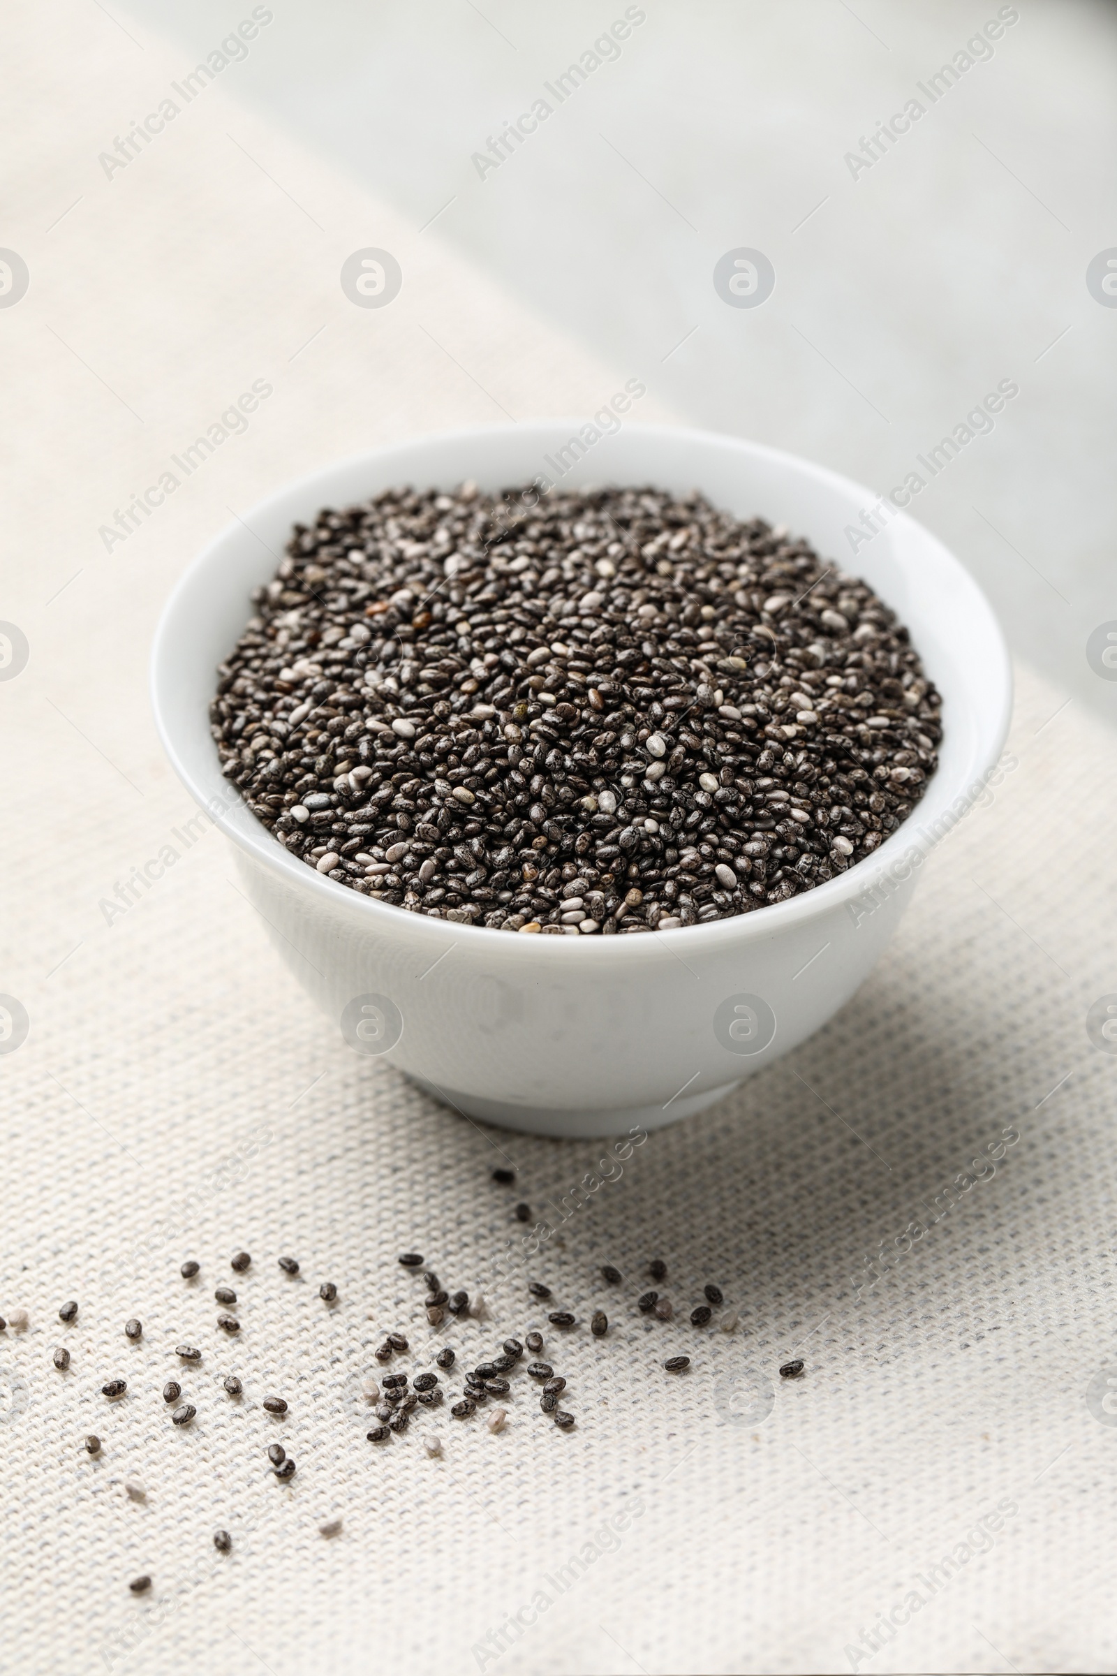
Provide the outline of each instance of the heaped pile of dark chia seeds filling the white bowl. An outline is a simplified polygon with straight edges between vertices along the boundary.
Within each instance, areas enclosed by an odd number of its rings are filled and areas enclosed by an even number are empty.
[[[750,913],[871,855],[938,763],[894,612],[697,493],[389,489],[296,525],[253,603],[224,774],[291,855],[414,913]]]

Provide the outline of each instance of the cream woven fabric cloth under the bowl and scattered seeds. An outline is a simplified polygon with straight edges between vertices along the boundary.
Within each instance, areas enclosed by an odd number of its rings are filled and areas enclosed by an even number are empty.
[[[472,1366],[541,1316],[494,1269],[514,1198],[559,1202],[601,1148],[484,1131],[311,1011],[224,841],[184,841],[151,630],[198,545],[285,478],[504,409],[593,411],[655,357],[591,364],[437,226],[400,225],[219,87],[106,178],[112,121],[183,67],[149,49],[139,85],[99,8],[67,22],[62,60],[25,27],[37,96],[0,114],[28,159],[3,243],[32,275],[0,313],[22,489],[0,617],[30,647],[0,684],[0,989],[28,1019],[0,1054],[0,1314],[30,1324],[0,1334],[0,1669],[1114,1669],[1117,1058],[1087,1031],[1117,991],[1112,739],[1020,670],[1011,766],[931,856],[874,977],[553,1217],[539,1269],[583,1321],[549,1334],[571,1435],[521,1373],[502,1435],[442,1410],[368,1445],[360,1381],[383,1332],[410,1336],[410,1371],[434,1348],[397,1252],[484,1292],[486,1319],[440,1334]],[[383,312],[337,283],[367,245],[405,272]],[[273,394],[248,431],[106,545],[253,379]],[[661,417],[648,384],[641,417]],[[512,1192],[489,1178],[506,1155]],[[635,1307],[655,1255],[667,1324]],[[735,1332],[687,1326],[707,1280]],[[221,1282],[238,1339],[214,1324]],[[584,1327],[598,1304],[605,1341]],[[183,1341],[196,1371],[178,1373]],[[672,1381],[682,1349],[693,1368]],[[804,1378],[780,1381],[790,1356]],[[198,1408],[186,1430],[159,1396],[172,1374]],[[111,1406],[114,1376],[129,1393]],[[260,1408],[273,1391],[280,1423]],[[266,1465],[275,1435],[290,1485]]]

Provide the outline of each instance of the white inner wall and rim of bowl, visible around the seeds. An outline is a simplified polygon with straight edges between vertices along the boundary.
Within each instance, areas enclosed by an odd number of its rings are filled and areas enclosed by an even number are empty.
[[[209,737],[208,707],[216,667],[233,650],[253,613],[251,592],[270,582],[291,525],[322,506],[340,506],[400,483],[450,489],[472,478],[502,491],[546,478],[556,486],[655,484],[675,493],[700,489],[740,518],[765,518],[804,535],[826,561],[862,577],[911,630],[924,669],[943,694],[938,773],[913,821],[928,825],[995,763],[1008,729],[1011,677],[1003,637],[973,578],[928,530],[898,513],[869,540],[862,513],[878,496],[821,466],[759,444],[698,431],[630,424],[584,446],[569,469],[581,421],[538,421],[459,431],[375,449],[313,473],[246,511],[194,560],[159,623],[152,652],[152,702],[162,742],[189,791],[209,806],[229,836],[270,866],[305,865],[275,843],[223,778]],[[564,451],[559,454],[559,451]],[[893,833],[874,861],[903,850],[911,821]],[[864,863],[862,863],[864,865]],[[839,878],[779,903],[764,915],[795,910],[816,897],[861,888],[851,868]],[[328,880],[322,882],[330,887]],[[348,892],[347,895],[352,895]],[[375,912],[380,903],[357,898]],[[757,925],[760,915],[747,915]],[[722,922],[725,923],[725,922]],[[770,920],[769,920],[770,925]],[[482,929],[459,927],[472,935]],[[702,935],[705,927],[675,935]],[[531,939],[528,939],[531,940]],[[516,942],[516,939],[512,939]],[[556,939],[568,944],[568,939]],[[643,939],[613,939],[625,945]],[[559,949],[563,954],[563,949]]]

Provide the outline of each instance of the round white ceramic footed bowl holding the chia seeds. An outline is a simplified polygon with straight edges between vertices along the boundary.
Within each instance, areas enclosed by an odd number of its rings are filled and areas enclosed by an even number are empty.
[[[851,555],[871,491],[752,442],[626,426],[563,488],[702,489],[740,518],[806,535],[909,627],[943,694],[939,768],[913,816],[866,861],[740,918],[645,937],[517,937],[373,902],[290,856],[221,774],[208,706],[216,665],[253,615],[291,525],[409,483],[501,491],[554,473],[579,422],[457,431],[317,471],[229,525],[176,587],[152,654],[156,721],[186,788],[233,841],[273,942],[358,1053],[383,1054],[461,1111],[541,1135],[616,1135],[700,1111],[811,1036],[878,960],[919,858],[975,796],[1005,741],[1008,655],[956,558],[898,515]],[[951,813],[953,811],[953,813]]]

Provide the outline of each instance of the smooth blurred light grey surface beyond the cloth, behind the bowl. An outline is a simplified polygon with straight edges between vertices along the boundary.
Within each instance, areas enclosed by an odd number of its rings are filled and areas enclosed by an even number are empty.
[[[1117,246],[1114,5],[270,10],[275,23],[224,79],[233,97],[415,228],[437,218],[509,292],[687,421],[807,454],[876,493],[918,471],[928,481],[911,511],[981,580],[1013,647],[1117,721],[1117,680],[1085,655],[1117,618],[1117,308],[1087,288],[1089,263]],[[112,3],[137,40],[162,35],[186,59],[250,12],[246,0]],[[595,54],[625,18],[626,39]],[[558,82],[571,64],[583,79]],[[538,99],[553,114],[492,164],[491,139]],[[923,114],[872,158],[879,124],[913,99]],[[775,270],[760,307],[715,290],[715,263],[739,248]],[[916,456],[1000,380],[1018,396],[995,429],[931,478]]]

